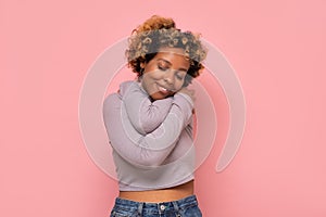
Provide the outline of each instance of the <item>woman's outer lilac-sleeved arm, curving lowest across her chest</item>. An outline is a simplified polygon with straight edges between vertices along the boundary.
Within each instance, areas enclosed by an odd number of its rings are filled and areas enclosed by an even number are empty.
[[[113,149],[126,161],[138,166],[161,165],[176,145],[184,128],[190,124],[192,105],[176,94],[164,122],[151,133],[139,133],[127,118],[117,94],[106,98],[103,117]]]

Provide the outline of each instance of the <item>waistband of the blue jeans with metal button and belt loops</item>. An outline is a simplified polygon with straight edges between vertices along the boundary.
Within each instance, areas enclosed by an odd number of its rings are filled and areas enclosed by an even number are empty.
[[[196,195],[190,195],[178,201],[162,202],[162,203],[147,203],[129,201],[121,197],[115,199],[113,209],[120,209],[128,213],[138,213],[139,216],[143,213],[147,214],[162,214],[164,212],[178,212],[186,209],[189,206],[198,205]]]

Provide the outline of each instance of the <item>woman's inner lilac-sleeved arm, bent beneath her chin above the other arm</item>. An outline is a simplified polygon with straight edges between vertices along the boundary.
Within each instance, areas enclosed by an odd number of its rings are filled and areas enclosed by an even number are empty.
[[[131,82],[123,93],[123,103],[134,128],[149,133],[158,128],[171,110],[173,98],[151,102],[148,93],[138,82]]]

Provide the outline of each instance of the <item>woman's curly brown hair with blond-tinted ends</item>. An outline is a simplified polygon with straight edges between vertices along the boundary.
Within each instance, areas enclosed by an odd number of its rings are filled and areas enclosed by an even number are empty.
[[[176,28],[172,18],[153,15],[134,29],[128,39],[129,44],[126,50],[128,66],[139,78],[142,75],[141,63],[151,61],[160,48],[180,48],[190,63],[187,72],[190,76],[186,76],[184,82],[186,87],[204,68],[201,62],[206,56],[206,48],[202,46],[199,38],[200,35]]]

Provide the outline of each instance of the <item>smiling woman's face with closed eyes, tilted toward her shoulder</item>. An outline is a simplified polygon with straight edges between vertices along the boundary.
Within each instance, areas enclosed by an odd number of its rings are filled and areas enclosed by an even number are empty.
[[[180,48],[161,48],[148,63],[141,64],[142,88],[153,100],[162,100],[183,88],[189,61]]]

